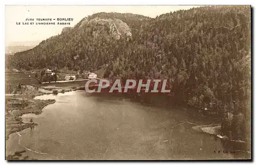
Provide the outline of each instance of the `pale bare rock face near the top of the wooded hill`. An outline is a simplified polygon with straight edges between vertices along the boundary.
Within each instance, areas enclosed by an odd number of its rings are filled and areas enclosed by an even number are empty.
[[[129,25],[120,19],[100,19],[94,18],[91,20],[84,20],[81,22],[79,28],[93,27],[92,35],[94,38],[98,38],[102,31],[108,32],[115,40],[119,40],[121,37],[130,40],[132,33]]]

